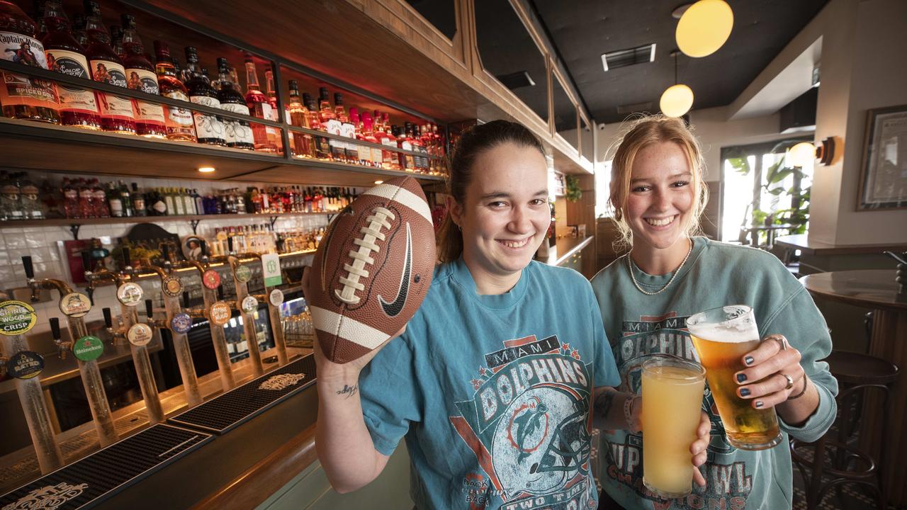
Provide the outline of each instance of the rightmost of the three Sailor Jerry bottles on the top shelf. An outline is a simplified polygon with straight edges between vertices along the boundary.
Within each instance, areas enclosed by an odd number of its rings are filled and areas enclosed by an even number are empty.
[[[141,44],[135,27],[135,17],[122,15],[122,47],[125,53],[122,64],[126,70],[126,86],[143,93],[159,95],[158,75],[154,66],[145,58],[145,48]],[[167,138],[164,111],[161,103],[132,100],[132,114],[135,116],[135,132],[146,138]]]

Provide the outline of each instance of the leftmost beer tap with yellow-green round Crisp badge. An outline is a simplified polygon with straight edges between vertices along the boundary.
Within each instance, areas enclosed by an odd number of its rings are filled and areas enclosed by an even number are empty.
[[[41,378],[38,376],[44,366],[44,360],[28,347],[24,333],[34,327],[36,321],[34,309],[22,301],[11,300],[0,292],[0,357],[5,358],[7,366],[14,366],[15,362],[27,368],[13,375],[15,378],[15,392],[19,396],[19,403],[28,424],[28,433],[32,436],[34,454],[38,459],[41,474],[46,475],[55,469],[63,467],[63,454],[54,438],[54,427],[51,424],[50,412],[44,400],[44,391],[41,388]],[[59,329],[59,327],[58,327]],[[9,364],[12,360],[13,363]],[[31,366],[29,368],[28,366]]]

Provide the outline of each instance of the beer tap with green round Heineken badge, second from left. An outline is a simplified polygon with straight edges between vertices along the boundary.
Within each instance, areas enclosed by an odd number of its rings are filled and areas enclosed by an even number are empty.
[[[63,280],[51,278],[35,280],[31,257],[23,257],[22,263],[28,286],[32,288],[33,301],[36,300],[40,289],[54,289],[60,294],[60,310],[66,316],[66,323],[73,340],[73,355],[78,362],[79,372],[82,374],[82,384],[85,388],[85,395],[88,397],[88,405],[91,407],[94,427],[98,431],[98,440],[101,446],[112,445],[120,437],[116,428],[113,427],[111,408],[104,392],[101,369],[98,368],[97,358],[103,352],[103,343],[99,338],[88,334],[83,319],[91,309],[91,300],[84,294],[73,292],[73,289]],[[51,327],[54,327],[54,321],[51,321]],[[62,346],[63,342],[58,345]]]

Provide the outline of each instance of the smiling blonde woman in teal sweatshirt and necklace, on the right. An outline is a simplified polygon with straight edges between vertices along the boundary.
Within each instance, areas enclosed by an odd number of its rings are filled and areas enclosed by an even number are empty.
[[[630,251],[592,280],[620,372],[614,402],[629,400],[639,413],[645,359],[698,359],[686,325],[690,315],[746,305],[764,339],[741,358],[746,368],[736,373],[736,393],[753,407],[774,406],[783,440],[761,451],[736,449],[707,387],[703,409],[711,441],[695,452],[707,455],[700,467],[706,485],[683,498],[659,499],[642,485],[642,436],[604,430],[603,508],[790,508],[787,436],[814,441],[834,421],[837,382],[820,361],[832,348],[822,315],[770,253],[697,236],[707,201],[704,170],[702,151],[684,121],[662,115],[633,123],[614,154],[610,204]],[[778,335],[766,338],[770,334]]]

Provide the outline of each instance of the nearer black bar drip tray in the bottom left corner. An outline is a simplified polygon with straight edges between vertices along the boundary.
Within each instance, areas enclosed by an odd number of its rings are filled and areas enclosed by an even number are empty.
[[[203,432],[155,425],[0,496],[0,508],[91,508],[211,438]]]

